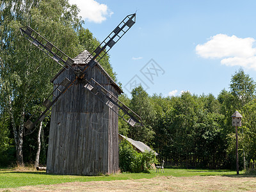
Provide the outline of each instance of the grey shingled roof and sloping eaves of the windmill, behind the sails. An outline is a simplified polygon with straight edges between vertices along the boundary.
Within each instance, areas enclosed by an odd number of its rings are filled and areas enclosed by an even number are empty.
[[[88,58],[90,56],[90,52],[87,50],[84,50],[83,52],[81,52],[80,54],[78,54],[73,60],[74,60],[74,65],[81,65],[84,66],[87,63],[85,63],[84,61],[86,60],[86,58]],[[108,77],[108,79],[111,81],[111,84],[116,88],[116,90],[118,90],[119,93],[124,93],[123,90],[115,83],[115,81],[109,76],[108,72],[106,72],[106,70],[104,70],[104,68],[100,65],[100,63],[97,62],[97,67],[100,68],[100,70],[102,70],[102,72]],[[60,72],[58,72],[58,74],[56,74],[56,76],[54,76],[52,78],[52,81],[54,81],[54,79],[56,79],[56,77],[58,77],[61,72],[63,72],[63,70],[65,70],[65,68],[62,68],[60,70]]]

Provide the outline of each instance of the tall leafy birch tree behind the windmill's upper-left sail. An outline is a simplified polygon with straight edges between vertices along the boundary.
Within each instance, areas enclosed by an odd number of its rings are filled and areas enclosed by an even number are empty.
[[[1,109],[8,112],[17,164],[24,166],[22,144],[26,111],[33,112],[52,90],[50,80],[60,67],[20,35],[25,25],[47,35],[70,56],[82,51],[75,29],[81,26],[77,7],[66,0],[1,1]]]

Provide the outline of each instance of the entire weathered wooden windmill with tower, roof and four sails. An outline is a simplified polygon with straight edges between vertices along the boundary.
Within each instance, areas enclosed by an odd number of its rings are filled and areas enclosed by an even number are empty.
[[[52,110],[48,173],[97,175],[118,171],[118,110],[124,112],[121,117],[132,126],[140,126],[141,120],[118,100],[122,90],[99,60],[135,19],[136,13],[127,15],[92,54],[85,50],[74,59],[29,26],[20,28],[31,44],[63,67],[52,79],[54,90],[43,103],[45,110],[38,108],[24,124],[26,135]]]

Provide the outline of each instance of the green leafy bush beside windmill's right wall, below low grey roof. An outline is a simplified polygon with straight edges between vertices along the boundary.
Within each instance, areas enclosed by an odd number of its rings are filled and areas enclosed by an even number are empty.
[[[134,150],[131,143],[123,140],[119,144],[119,167],[122,172],[148,172],[152,164],[157,163],[154,152],[139,153]]]

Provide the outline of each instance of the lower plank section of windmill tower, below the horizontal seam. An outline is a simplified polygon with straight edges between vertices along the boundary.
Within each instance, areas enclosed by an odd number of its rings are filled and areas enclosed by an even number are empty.
[[[47,173],[99,175],[118,172],[118,127],[103,113],[52,113]],[[118,118],[116,118],[118,120]],[[118,125],[118,124],[116,124]]]

